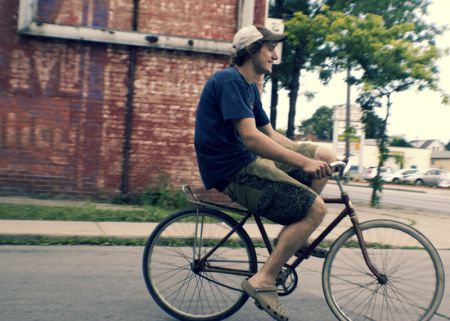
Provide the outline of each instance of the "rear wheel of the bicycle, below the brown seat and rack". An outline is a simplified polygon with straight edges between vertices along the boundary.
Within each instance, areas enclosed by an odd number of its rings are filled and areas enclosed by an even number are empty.
[[[237,222],[216,210],[187,209],[158,224],[148,238],[143,258],[147,288],[167,313],[180,320],[221,320],[247,301],[243,276],[205,272],[196,266]],[[239,228],[203,267],[255,273],[257,259],[248,234]]]

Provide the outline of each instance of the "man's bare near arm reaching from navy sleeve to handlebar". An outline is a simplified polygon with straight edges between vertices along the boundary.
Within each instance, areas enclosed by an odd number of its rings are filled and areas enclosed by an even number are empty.
[[[235,119],[233,122],[245,146],[253,153],[264,158],[302,168],[316,179],[331,175],[331,170],[327,163],[310,159],[283,147],[276,139],[272,139],[264,131],[258,130],[254,118]],[[282,135],[280,134],[280,136]],[[276,135],[275,137],[279,138]],[[291,140],[288,141],[292,142]]]

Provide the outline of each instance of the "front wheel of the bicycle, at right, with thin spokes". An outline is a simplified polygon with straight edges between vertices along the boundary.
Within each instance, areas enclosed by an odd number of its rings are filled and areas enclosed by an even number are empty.
[[[362,223],[370,261],[386,277],[379,282],[364,261],[353,228],[330,248],[322,272],[328,305],[339,320],[430,320],[444,292],[444,269],[430,241],[390,220]]]

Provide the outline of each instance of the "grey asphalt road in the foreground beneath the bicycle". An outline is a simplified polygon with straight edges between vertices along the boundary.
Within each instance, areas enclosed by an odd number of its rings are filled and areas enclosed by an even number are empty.
[[[2,321],[169,321],[141,272],[142,247],[1,246]],[[450,251],[441,252],[450,271]],[[322,261],[298,271],[300,286],[283,303],[295,321],[335,320],[321,288]],[[448,276],[448,273],[447,273]],[[450,320],[448,291],[433,321]],[[229,321],[272,320],[251,301]]]

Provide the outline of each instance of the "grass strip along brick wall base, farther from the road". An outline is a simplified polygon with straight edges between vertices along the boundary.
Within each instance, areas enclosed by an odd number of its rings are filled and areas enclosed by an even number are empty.
[[[173,210],[157,206],[121,210],[99,209],[90,204],[81,207],[0,204],[2,220],[159,222],[171,212]]]

